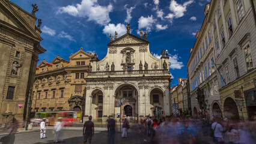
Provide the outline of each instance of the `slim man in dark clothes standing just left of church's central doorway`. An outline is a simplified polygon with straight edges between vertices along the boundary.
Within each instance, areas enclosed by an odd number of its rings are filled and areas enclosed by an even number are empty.
[[[114,144],[115,143],[115,119],[112,119],[111,116],[109,116],[108,120],[108,144]]]

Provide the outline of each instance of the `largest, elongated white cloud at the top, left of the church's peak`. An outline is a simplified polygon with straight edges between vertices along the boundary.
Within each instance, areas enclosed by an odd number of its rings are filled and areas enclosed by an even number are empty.
[[[56,14],[67,13],[75,17],[88,17],[89,21],[94,21],[100,25],[107,25],[110,22],[109,13],[113,6],[100,6],[97,0],[82,0],[81,4],[67,5],[59,7]]]

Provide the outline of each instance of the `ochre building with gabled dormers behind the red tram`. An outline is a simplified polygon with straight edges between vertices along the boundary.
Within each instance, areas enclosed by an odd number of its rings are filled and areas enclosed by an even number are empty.
[[[32,112],[77,110],[83,116],[86,91],[84,78],[91,68],[92,56],[81,47],[78,52],[71,54],[70,61],[59,56],[51,63],[42,61],[37,67],[32,91]]]

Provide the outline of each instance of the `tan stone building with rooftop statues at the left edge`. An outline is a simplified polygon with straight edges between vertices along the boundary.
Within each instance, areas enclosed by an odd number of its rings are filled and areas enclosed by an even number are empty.
[[[26,119],[40,46],[38,10],[28,13],[10,1],[0,1],[0,124]]]

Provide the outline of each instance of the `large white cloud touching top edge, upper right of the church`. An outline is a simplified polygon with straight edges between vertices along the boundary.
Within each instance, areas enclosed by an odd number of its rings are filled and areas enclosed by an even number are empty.
[[[172,20],[174,18],[180,18],[184,16],[184,13],[187,11],[187,6],[189,6],[190,4],[192,4],[194,2],[194,0],[190,0],[187,2],[184,2],[183,5],[178,4],[175,0],[171,1],[171,4],[169,5],[169,10],[172,13],[169,13],[168,16],[166,16],[165,18],[169,19],[170,22],[172,22]]]

